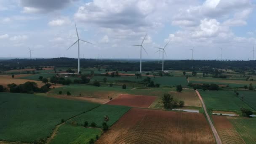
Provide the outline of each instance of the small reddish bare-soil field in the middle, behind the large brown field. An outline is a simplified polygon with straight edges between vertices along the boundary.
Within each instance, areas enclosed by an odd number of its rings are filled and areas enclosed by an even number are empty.
[[[156,98],[157,97],[155,96],[121,94],[116,99],[109,101],[107,104],[147,108],[155,101]]]

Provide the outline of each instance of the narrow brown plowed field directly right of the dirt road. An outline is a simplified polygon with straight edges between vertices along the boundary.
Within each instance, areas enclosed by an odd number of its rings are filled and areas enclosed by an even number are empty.
[[[212,115],[214,125],[219,133],[222,144],[245,144],[227,117]]]

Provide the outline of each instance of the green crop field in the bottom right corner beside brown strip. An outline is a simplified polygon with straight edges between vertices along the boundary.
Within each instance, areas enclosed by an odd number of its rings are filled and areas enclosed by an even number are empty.
[[[243,138],[246,144],[256,143],[255,118],[228,117],[228,119],[233,124],[236,131]]]

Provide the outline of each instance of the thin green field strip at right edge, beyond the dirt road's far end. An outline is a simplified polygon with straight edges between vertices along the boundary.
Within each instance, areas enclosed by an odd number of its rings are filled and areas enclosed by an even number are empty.
[[[256,81],[246,80],[229,80],[229,79],[217,79],[212,77],[189,77],[190,83],[205,83],[205,84],[217,84],[217,85],[229,85],[229,87],[243,87],[252,83],[256,85]]]

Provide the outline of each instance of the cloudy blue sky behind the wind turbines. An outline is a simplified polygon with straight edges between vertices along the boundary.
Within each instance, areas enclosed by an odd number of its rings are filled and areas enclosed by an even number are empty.
[[[256,0],[0,0],[0,57],[77,58],[75,23],[81,58],[251,60]]]

